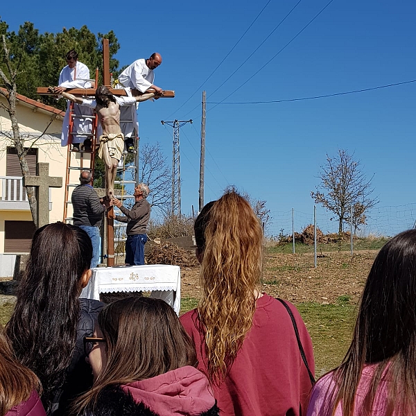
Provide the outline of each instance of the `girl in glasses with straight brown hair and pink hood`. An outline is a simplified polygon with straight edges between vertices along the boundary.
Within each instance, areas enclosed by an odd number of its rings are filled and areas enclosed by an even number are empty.
[[[108,305],[85,346],[94,386],[73,414],[218,416],[207,377],[194,367],[191,340],[163,300],[128,297]]]

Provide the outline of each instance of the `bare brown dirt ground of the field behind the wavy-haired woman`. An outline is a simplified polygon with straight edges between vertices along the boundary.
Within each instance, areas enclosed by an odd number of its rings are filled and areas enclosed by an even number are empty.
[[[269,254],[263,266],[262,291],[295,304],[336,303],[347,295],[358,302],[378,250],[313,254]],[[181,297],[200,298],[199,266],[181,268]]]

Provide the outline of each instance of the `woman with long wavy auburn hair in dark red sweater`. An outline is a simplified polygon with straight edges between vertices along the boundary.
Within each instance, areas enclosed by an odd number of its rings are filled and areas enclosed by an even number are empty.
[[[221,415],[306,413],[311,379],[291,315],[259,291],[263,229],[252,207],[233,190],[202,209],[195,223],[202,299],[181,322],[196,345]],[[311,372],[311,338],[293,313]]]

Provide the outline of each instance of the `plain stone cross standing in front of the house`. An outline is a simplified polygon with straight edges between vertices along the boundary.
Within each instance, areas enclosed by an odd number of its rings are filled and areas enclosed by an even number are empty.
[[[49,224],[49,188],[62,188],[62,177],[49,176],[49,163],[37,162],[36,176],[24,176],[23,186],[36,188],[37,227]]]

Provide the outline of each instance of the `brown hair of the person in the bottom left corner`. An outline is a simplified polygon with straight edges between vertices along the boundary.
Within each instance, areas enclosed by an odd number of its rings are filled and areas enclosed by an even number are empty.
[[[39,379],[17,361],[0,326],[0,415],[26,401],[33,390],[41,392]]]

